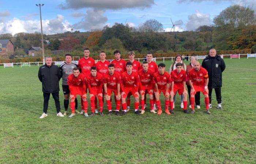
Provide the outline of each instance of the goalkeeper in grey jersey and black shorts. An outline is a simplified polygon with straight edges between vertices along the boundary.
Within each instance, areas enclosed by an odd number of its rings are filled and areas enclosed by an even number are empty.
[[[61,72],[61,77],[62,77],[62,90],[64,93],[64,108],[65,108],[65,112],[64,112],[64,116],[67,115],[68,113],[68,104],[69,104],[69,88],[68,88],[68,75],[73,73],[73,69],[75,67],[78,67],[77,64],[72,63],[72,56],[70,54],[66,54],[65,55],[65,63],[63,63],[62,65],[60,65],[60,72]],[[80,113],[77,110],[77,99],[75,98],[75,112],[76,113]]]

